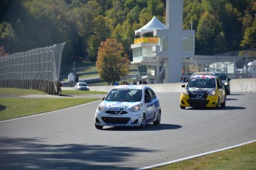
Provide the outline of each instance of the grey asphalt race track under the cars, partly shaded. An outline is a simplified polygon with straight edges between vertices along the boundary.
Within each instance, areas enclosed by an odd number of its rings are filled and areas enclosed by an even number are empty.
[[[160,125],[94,127],[99,101],[0,122],[0,169],[140,169],[256,139],[256,93],[226,107],[180,109],[180,93],[157,93]],[[1,114],[1,111],[0,111]]]

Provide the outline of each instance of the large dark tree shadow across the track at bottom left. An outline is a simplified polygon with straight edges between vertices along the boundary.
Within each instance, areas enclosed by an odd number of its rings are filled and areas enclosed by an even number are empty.
[[[0,138],[0,169],[136,169],[119,165],[152,150],[85,144],[47,145],[36,139]]]

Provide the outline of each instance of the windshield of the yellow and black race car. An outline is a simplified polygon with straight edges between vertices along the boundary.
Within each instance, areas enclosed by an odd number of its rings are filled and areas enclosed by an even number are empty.
[[[192,78],[188,81],[187,87],[215,88],[216,81],[214,78]]]

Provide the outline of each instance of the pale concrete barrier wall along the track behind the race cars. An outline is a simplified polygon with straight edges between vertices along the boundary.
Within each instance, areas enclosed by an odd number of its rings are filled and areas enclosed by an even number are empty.
[[[155,92],[182,92],[183,83],[173,84],[147,84]],[[90,86],[91,91],[109,92],[114,86]],[[232,79],[230,81],[232,92],[256,92],[256,78]],[[62,89],[73,89],[73,87],[62,87]]]

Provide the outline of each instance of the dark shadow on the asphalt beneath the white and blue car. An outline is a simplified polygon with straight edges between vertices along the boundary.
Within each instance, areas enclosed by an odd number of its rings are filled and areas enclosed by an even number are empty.
[[[160,123],[159,125],[154,125],[153,123],[147,124],[143,129],[140,129],[139,127],[119,127],[119,126],[105,126],[102,130],[108,130],[108,131],[159,131],[159,130],[174,130],[174,129],[180,129],[183,126],[180,125],[174,125],[174,124],[164,124]]]

